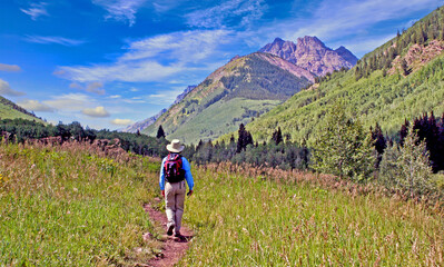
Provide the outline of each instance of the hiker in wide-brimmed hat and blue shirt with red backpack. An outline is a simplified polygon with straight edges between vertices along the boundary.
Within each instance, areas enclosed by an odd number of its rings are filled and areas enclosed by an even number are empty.
[[[180,237],[181,217],[184,215],[184,201],[186,194],[185,180],[187,180],[189,191],[187,196],[191,196],[193,181],[191,167],[188,160],[180,155],[184,150],[180,140],[174,139],[167,145],[169,155],[164,158],[160,167],[159,186],[161,195],[165,198],[167,211],[167,235],[171,236],[172,230],[176,237]]]

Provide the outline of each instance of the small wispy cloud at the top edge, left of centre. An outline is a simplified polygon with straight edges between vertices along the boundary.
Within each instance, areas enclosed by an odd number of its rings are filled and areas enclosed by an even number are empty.
[[[105,19],[128,22],[131,27],[136,23],[136,13],[147,0],[92,0],[92,3],[107,10]]]

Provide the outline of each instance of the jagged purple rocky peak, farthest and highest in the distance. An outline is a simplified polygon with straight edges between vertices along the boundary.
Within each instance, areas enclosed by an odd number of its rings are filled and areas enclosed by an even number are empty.
[[[325,76],[342,68],[349,69],[357,62],[357,58],[346,48],[332,50],[317,37],[309,36],[298,38],[297,43],[276,38],[259,51],[276,55],[316,76]]]

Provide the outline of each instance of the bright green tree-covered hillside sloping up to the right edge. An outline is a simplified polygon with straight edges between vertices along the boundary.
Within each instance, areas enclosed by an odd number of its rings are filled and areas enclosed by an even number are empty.
[[[322,79],[247,126],[266,140],[279,126],[294,141],[312,140],[326,110],[339,98],[366,127],[378,122],[394,134],[423,112],[444,112],[444,9],[366,55],[358,65]]]

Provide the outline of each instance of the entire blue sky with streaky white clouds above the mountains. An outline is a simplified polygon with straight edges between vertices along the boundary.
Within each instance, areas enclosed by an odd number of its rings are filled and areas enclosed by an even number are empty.
[[[57,123],[119,129],[236,55],[317,36],[364,56],[437,0],[2,0],[0,95]]]

